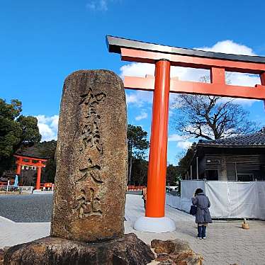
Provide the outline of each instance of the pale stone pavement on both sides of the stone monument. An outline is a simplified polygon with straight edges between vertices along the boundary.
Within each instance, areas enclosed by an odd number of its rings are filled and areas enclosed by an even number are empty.
[[[152,234],[133,230],[135,220],[145,214],[142,196],[127,195],[125,232],[134,232],[150,244],[152,239],[186,239],[194,252],[203,255],[204,265],[265,265],[265,222],[249,221],[250,229],[243,230],[241,222],[213,222],[206,240],[196,238],[194,218],[174,208],[166,207],[166,215],[176,222],[176,231]],[[0,218],[0,248],[12,246],[50,233],[50,222],[16,223]]]

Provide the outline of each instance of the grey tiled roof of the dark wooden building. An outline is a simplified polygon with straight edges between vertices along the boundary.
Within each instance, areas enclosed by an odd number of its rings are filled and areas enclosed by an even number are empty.
[[[238,146],[249,147],[259,146],[265,147],[265,128],[257,133],[251,135],[239,135],[219,140],[199,140],[198,145],[211,145],[211,146]]]

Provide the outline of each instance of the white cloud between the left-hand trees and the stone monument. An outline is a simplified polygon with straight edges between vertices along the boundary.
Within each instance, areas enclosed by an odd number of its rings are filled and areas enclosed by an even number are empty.
[[[42,136],[42,141],[57,140],[59,115],[45,116],[38,115],[38,128]]]

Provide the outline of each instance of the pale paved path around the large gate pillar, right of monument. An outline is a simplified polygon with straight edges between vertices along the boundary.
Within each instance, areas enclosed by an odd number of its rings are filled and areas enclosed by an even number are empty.
[[[203,255],[203,265],[265,265],[265,222],[249,221],[250,229],[243,230],[241,222],[213,222],[208,226],[207,239],[196,238],[195,218],[187,213],[166,206],[166,216],[176,222],[176,231],[152,234],[133,230],[133,222],[144,215],[140,196],[127,196],[125,218],[126,232],[134,232],[150,244],[152,239],[186,239],[194,252]]]

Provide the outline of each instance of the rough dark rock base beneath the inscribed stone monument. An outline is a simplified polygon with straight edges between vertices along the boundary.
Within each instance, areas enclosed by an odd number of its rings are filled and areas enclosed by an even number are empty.
[[[11,247],[4,265],[143,265],[152,259],[150,247],[135,234],[101,243],[44,237]]]

